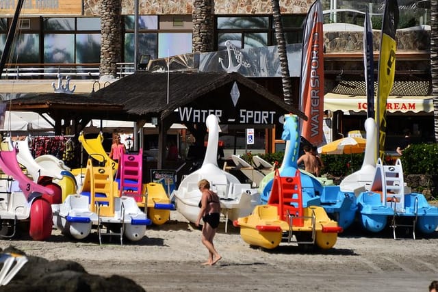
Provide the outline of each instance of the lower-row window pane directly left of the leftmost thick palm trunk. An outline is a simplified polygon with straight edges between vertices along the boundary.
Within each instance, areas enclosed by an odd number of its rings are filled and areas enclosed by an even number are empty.
[[[101,62],[101,35],[76,35],[76,63]]]

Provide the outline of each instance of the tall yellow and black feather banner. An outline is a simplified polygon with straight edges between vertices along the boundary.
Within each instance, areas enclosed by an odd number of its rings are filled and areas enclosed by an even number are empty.
[[[385,1],[383,14],[381,52],[378,59],[377,110],[378,139],[376,155],[381,159],[385,156],[386,139],[386,103],[394,83],[396,73],[396,29],[398,26],[397,0]]]

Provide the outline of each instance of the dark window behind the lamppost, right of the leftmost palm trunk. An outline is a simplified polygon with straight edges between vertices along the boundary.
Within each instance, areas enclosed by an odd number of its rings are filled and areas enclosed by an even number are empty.
[[[138,56],[141,54],[151,55],[151,59],[157,58],[156,33],[139,33],[138,34]],[[134,62],[134,34],[125,34],[125,62]]]

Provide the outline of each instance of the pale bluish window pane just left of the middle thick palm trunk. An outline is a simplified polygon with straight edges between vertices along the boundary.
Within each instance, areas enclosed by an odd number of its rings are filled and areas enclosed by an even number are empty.
[[[176,32],[158,35],[158,57],[192,53],[192,33]]]

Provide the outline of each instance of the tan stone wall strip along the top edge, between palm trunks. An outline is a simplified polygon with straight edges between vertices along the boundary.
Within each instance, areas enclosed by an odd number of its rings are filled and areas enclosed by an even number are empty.
[[[105,0],[101,0],[105,2]],[[99,0],[83,0],[85,16],[99,16]],[[213,0],[211,0],[213,1]],[[192,14],[193,0],[138,0],[139,14]],[[122,14],[134,14],[134,0],[122,0]],[[307,14],[313,0],[280,0],[281,13]],[[270,0],[222,0],[214,2],[214,14],[267,14]]]

